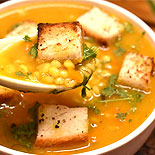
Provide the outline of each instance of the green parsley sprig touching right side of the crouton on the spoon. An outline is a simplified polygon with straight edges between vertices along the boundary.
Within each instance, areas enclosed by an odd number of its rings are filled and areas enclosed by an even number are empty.
[[[83,54],[84,54],[84,60],[89,60],[96,58],[98,49],[94,46],[88,47],[85,43],[83,45]]]

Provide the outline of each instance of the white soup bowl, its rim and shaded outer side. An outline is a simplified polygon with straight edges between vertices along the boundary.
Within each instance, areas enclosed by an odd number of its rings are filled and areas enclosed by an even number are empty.
[[[52,1],[69,1],[69,0],[44,0],[44,2]],[[129,11],[103,0],[70,0],[80,3],[88,3],[94,6],[103,7],[105,10],[115,13],[139,27],[142,31],[145,31],[147,38],[150,43],[155,46],[155,33],[148,27],[141,19],[139,19],[134,14]],[[43,2],[42,0],[11,0],[0,4],[0,11],[7,10],[8,8],[14,8],[19,5],[27,3],[37,3]],[[108,146],[102,147],[97,150],[89,151],[86,153],[80,153],[80,155],[95,155],[95,154],[104,154],[104,155],[133,155],[136,151],[144,144],[147,140],[153,129],[155,128],[155,109],[150,114],[150,116],[142,123],[136,130],[122,138],[121,140],[110,144]],[[22,153],[15,151],[4,146],[0,146],[0,154],[13,154],[13,155],[29,155],[28,153]]]

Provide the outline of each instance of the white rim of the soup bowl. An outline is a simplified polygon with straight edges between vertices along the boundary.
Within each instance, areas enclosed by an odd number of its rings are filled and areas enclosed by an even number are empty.
[[[2,4],[0,4],[0,9],[7,9],[7,7],[17,4],[17,3],[24,3],[24,2],[31,2],[31,1],[35,1],[37,2],[43,2],[41,0],[10,0],[7,2],[4,2]],[[123,17],[127,17],[129,20],[131,20],[134,24],[137,24],[138,27],[140,27],[140,29],[144,30],[149,39],[152,40],[153,43],[151,43],[152,45],[155,45],[155,33],[153,32],[153,30],[146,24],[144,23],[139,17],[137,17],[136,15],[134,15],[133,13],[129,12],[128,10],[113,4],[111,2],[105,1],[105,0],[45,0],[44,2],[54,2],[54,1],[70,1],[70,2],[89,2],[92,3],[93,5],[99,5],[101,7],[105,7],[105,9],[109,8],[112,9],[113,11],[116,11],[118,13],[120,13],[120,15],[122,15]],[[110,11],[111,12],[111,11]],[[131,140],[133,140],[134,138],[136,138],[138,135],[140,135],[145,129],[147,129],[149,127],[149,125],[151,125],[152,123],[155,122],[155,109],[152,111],[152,113],[149,115],[149,117],[138,127],[136,128],[133,132],[131,132],[129,135],[125,136],[124,138],[110,144],[107,146],[104,146],[102,148],[99,149],[95,149],[92,151],[88,151],[88,152],[84,152],[84,153],[79,153],[79,155],[89,155],[89,154],[103,154],[103,153],[107,153],[109,151],[112,151],[114,149],[117,149],[121,146],[123,146],[124,144],[130,142]],[[9,153],[9,154],[21,154],[21,155],[30,155],[29,153],[24,153],[24,152],[20,152],[20,151],[16,151],[7,147],[4,147],[2,145],[0,145],[0,151],[4,152],[4,153]]]

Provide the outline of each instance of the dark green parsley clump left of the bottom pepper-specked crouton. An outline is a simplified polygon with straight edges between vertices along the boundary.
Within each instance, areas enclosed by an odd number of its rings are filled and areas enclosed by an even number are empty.
[[[11,132],[13,137],[19,141],[20,144],[26,146],[27,148],[32,148],[32,138],[36,135],[37,129],[37,109],[39,107],[39,103],[36,104],[28,110],[28,113],[32,117],[32,121],[27,124],[12,124]]]

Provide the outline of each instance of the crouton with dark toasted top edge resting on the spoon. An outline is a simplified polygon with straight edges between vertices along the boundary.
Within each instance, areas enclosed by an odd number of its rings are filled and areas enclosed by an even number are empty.
[[[38,57],[44,60],[82,61],[82,27],[79,22],[38,25]]]

